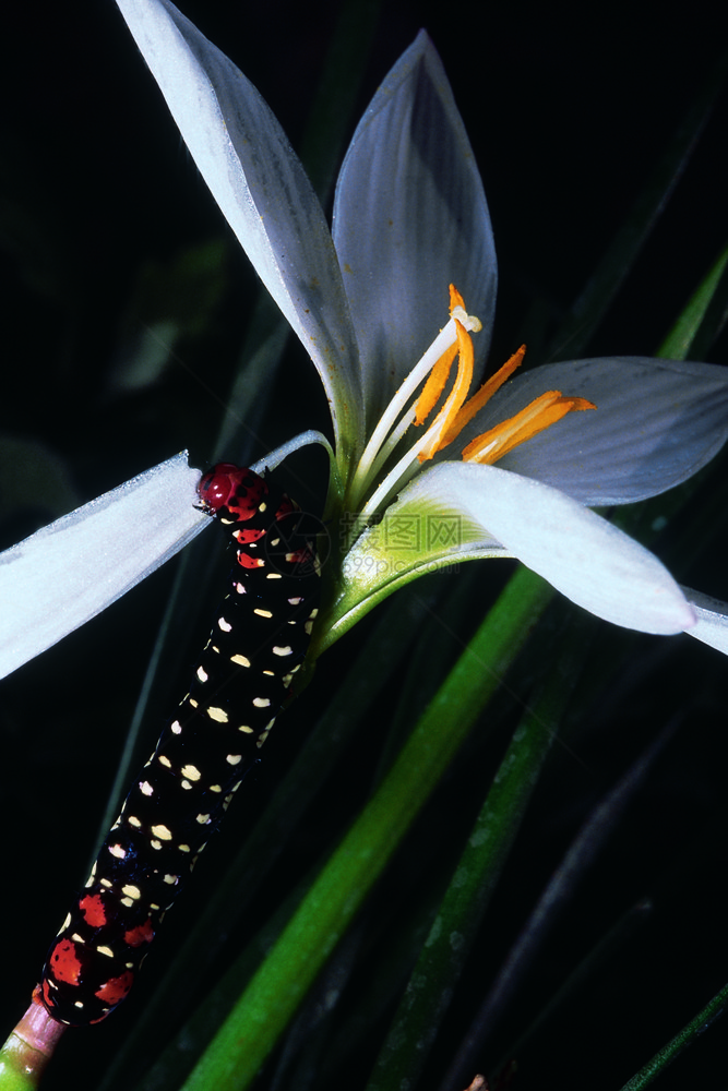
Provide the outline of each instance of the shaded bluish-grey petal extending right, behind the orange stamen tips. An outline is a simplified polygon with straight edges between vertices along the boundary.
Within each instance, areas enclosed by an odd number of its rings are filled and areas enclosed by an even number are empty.
[[[478,434],[553,389],[597,409],[569,413],[499,466],[583,504],[628,504],[665,492],[696,473],[728,437],[728,368],[648,357],[571,360],[517,374],[468,431]]]

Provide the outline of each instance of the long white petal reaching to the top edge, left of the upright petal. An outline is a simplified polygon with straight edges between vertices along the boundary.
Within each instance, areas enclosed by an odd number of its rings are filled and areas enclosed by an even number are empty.
[[[117,0],[225,218],[361,442],[356,337],[321,205],[258,91],[168,0]]]

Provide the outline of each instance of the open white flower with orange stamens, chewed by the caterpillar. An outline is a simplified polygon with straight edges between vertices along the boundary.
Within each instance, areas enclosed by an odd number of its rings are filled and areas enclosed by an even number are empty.
[[[489,347],[496,253],[473,152],[427,35],[397,61],[357,128],[330,231],[278,122],[228,58],[168,0],[117,2],[329,398],[333,446],[306,433],[264,465],[323,442],[332,464],[326,517],[363,528],[350,535],[341,568],[329,567],[335,588],[324,624],[332,638],[420,572],[497,555],[518,558],[617,624],[665,634],[693,626],[693,608],[660,562],[585,505],[653,496],[704,466],[728,435],[728,377],[712,364],[626,358],[548,364],[510,379],[514,358],[485,394],[468,399]],[[447,321],[451,284],[462,295],[451,298]],[[458,357],[457,375],[422,388],[447,355]],[[417,407],[432,421],[427,427],[413,423]],[[109,511],[112,497],[117,492]],[[166,506],[181,528],[143,543],[138,574],[109,583],[77,620],[64,608],[64,631],[200,528],[189,481],[170,481]],[[70,567],[83,568],[84,550],[97,548],[85,511],[69,517],[80,528]],[[456,535],[429,536],[443,520]],[[392,547],[394,526],[416,528],[409,548]],[[15,551],[27,552],[34,540]],[[20,576],[16,555],[3,555],[11,582]],[[28,657],[60,635],[24,640]]]

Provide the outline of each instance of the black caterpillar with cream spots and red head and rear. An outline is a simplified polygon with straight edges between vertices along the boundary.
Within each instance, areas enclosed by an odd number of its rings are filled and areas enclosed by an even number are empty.
[[[126,799],[56,937],[37,998],[58,1022],[99,1022],[121,1003],[156,928],[246,771],[309,645],[319,572],[298,508],[252,470],[200,482],[238,564],[190,692]]]

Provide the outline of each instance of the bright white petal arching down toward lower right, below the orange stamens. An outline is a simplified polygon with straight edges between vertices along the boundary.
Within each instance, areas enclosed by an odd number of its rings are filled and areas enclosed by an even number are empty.
[[[418,503],[477,521],[559,591],[614,625],[680,633],[691,607],[656,556],[557,489],[494,466],[441,463],[389,511]]]

